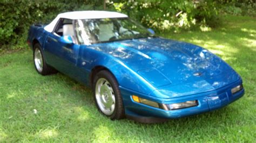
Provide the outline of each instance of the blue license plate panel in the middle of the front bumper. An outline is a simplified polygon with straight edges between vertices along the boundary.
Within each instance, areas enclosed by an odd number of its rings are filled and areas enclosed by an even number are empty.
[[[221,108],[228,104],[228,96],[226,92],[219,95],[208,96],[207,97],[208,105],[210,110]]]

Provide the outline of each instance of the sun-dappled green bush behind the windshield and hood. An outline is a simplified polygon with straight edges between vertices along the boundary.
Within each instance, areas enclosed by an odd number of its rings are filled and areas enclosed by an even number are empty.
[[[116,10],[140,20],[144,26],[157,31],[178,31],[195,25],[207,25],[217,16],[216,4],[211,0],[130,0],[119,1],[113,5]]]

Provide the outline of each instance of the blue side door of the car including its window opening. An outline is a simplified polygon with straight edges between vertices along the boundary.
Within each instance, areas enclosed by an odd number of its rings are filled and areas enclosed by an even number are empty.
[[[65,42],[65,36],[71,37],[72,43]],[[60,18],[53,32],[46,37],[46,62],[60,72],[76,77],[79,47],[76,44],[73,20]]]

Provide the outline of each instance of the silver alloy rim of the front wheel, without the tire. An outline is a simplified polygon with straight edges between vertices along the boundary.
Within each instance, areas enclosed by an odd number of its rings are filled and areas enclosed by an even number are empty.
[[[95,96],[99,109],[105,115],[112,115],[116,99],[111,84],[105,78],[99,78],[95,86]]]

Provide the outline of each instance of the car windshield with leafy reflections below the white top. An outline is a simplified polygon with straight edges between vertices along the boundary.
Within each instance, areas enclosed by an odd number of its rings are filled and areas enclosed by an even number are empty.
[[[129,18],[79,19],[75,30],[79,43],[85,45],[152,36],[145,27]]]

